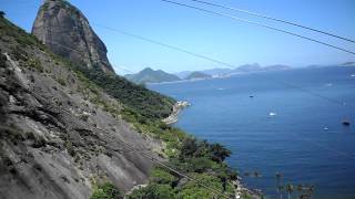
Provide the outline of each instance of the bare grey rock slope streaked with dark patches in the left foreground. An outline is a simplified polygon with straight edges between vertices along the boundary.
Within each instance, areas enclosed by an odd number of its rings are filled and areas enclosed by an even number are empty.
[[[141,151],[159,158],[160,142],[33,38],[0,27],[0,198],[84,199],[98,181],[121,192],[145,184],[153,164]]]

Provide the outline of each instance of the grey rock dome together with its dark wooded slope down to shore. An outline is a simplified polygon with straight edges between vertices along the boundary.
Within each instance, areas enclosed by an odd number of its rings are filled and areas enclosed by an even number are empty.
[[[70,60],[72,67],[135,113],[150,118],[164,118],[172,112],[173,98],[106,73],[105,67],[111,64],[104,44],[80,10],[68,1],[45,0],[32,32],[52,52]]]

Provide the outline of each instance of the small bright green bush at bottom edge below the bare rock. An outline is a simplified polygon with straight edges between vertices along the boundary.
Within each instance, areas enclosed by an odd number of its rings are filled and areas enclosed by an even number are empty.
[[[120,191],[111,184],[105,182],[101,186],[95,186],[90,199],[119,199],[123,198]]]

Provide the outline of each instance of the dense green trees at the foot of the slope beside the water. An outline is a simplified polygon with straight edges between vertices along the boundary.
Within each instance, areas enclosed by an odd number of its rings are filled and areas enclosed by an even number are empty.
[[[169,148],[169,145],[168,145]],[[200,142],[184,134],[184,139],[176,148],[178,156],[171,156],[169,165],[178,170],[187,174],[200,184],[209,185],[233,197],[234,188],[229,184],[236,179],[236,172],[231,170],[224,158],[231,151],[217,144]],[[216,155],[219,158],[216,158]],[[185,178],[165,168],[156,167],[151,174],[150,184],[141,189],[134,190],[129,198],[213,198],[217,197],[203,186],[189,181]]]

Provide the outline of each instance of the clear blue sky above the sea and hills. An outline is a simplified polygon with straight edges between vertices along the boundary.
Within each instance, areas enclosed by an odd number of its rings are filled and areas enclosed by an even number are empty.
[[[189,2],[189,0],[176,0]],[[210,0],[263,14],[282,18],[355,40],[354,0]],[[0,9],[16,24],[31,30],[42,0],[0,0]],[[136,72],[143,67],[168,72],[224,67],[199,57],[94,24],[124,30],[166,44],[204,54],[235,66],[246,63],[334,64],[355,61],[355,56],[261,27],[236,22],[226,18],[168,4],[160,0],[70,0],[89,19],[92,28],[104,41],[113,65]],[[215,8],[213,8],[215,9]],[[216,9],[217,11],[223,11]],[[355,51],[347,43],[310,31],[261,20],[241,13],[241,18],[267,23]],[[120,69],[115,69],[120,74]]]

